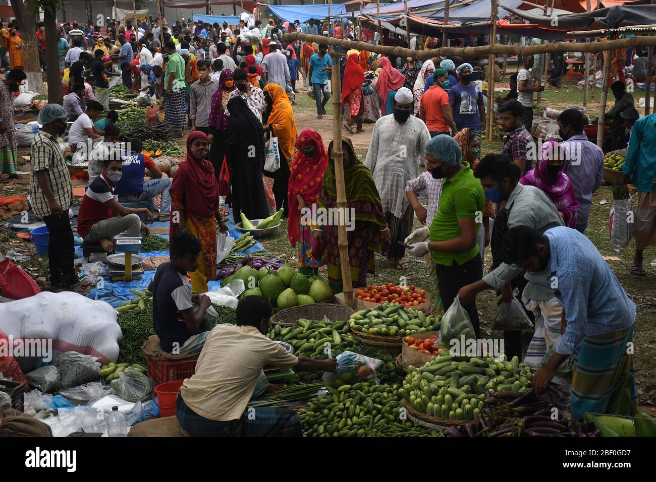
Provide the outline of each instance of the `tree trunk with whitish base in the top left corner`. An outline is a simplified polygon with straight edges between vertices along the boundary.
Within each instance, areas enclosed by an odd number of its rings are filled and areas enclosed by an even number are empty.
[[[28,77],[26,80],[28,90],[45,94],[39,62],[41,51],[37,45],[37,35],[34,30],[36,24],[35,5],[35,0],[26,0],[25,2],[16,0],[12,1],[11,7],[20,26],[20,38],[23,43],[23,64]]]

